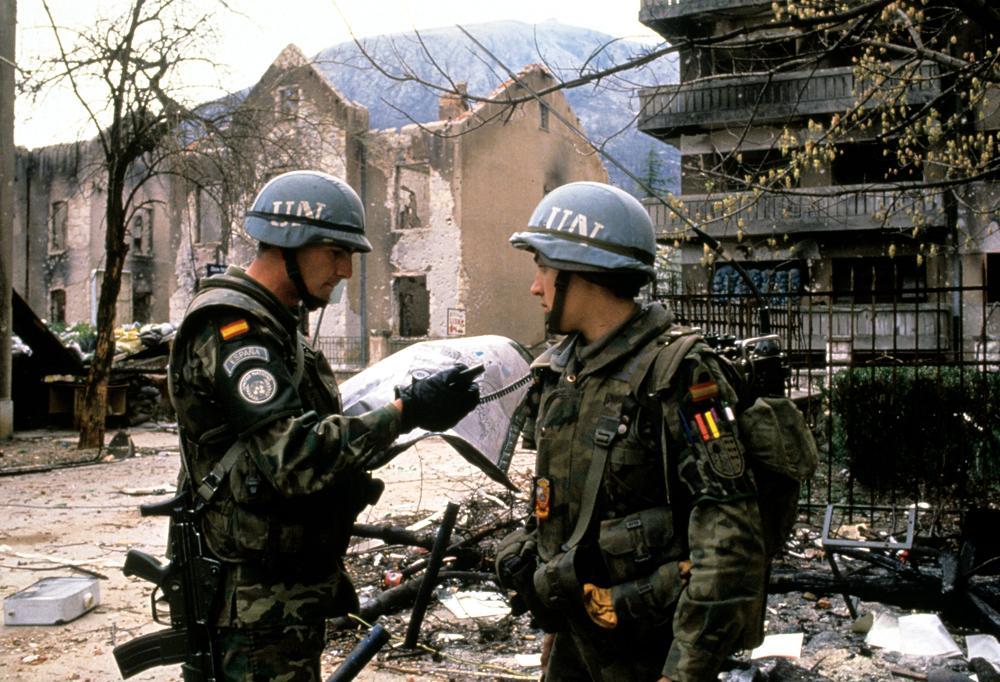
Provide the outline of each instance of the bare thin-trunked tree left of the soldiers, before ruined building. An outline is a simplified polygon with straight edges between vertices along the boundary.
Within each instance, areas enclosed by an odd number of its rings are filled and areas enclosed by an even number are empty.
[[[143,189],[154,179],[171,184],[171,197],[186,201],[201,192],[217,208],[213,260],[228,260],[232,227],[262,182],[302,164],[336,166],[331,140],[367,128],[345,125],[344,106],[302,100],[306,81],[318,81],[308,60],[286,49],[251,90],[216,101],[192,102],[192,83],[214,72],[206,57],[224,0],[133,0],[119,16],[92,27],[67,29],[44,2],[57,51],[43,58],[22,84],[29,92],[69,87],[96,133],[99,162],[88,173],[105,194],[104,267],[97,303],[97,339],[80,414],[79,447],[103,443],[107,386],[115,353],[116,301],[136,211],[151,201]],[[286,87],[287,86],[287,87]],[[217,86],[216,86],[217,87]],[[325,90],[324,90],[325,88]],[[329,97],[324,82],[319,91]],[[276,93],[291,93],[275,101]],[[322,96],[322,95],[321,95]],[[325,106],[324,106],[325,105]],[[343,166],[347,160],[341,159]],[[180,188],[178,191],[177,188]],[[196,218],[194,219],[196,220]],[[189,221],[189,222],[193,222]],[[191,259],[191,281],[197,259]],[[181,275],[181,273],[177,273]]]

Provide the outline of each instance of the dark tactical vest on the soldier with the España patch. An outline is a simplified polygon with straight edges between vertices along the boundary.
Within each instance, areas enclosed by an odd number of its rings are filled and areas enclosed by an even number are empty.
[[[345,470],[326,490],[284,498],[268,483],[250,453],[249,438],[238,438],[213,401],[191,386],[192,372],[180,353],[189,335],[221,309],[237,309],[278,341],[292,368],[300,401],[319,420],[340,412],[340,394],[326,359],[295,328],[295,318],[245,280],[230,274],[203,284],[177,332],[170,359],[170,395],[178,414],[185,472],[195,503],[203,504],[202,528],[209,548],[221,559],[255,562],[283,570],[299,567],[322,575],[335,568],[347,548],[355,517],[381,492],[366,472]],[[308,567],[308,568],[307,568]]]

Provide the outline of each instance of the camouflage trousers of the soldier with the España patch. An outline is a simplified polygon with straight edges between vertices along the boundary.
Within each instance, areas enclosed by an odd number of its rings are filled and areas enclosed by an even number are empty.
[[[222,680],[318,682],[326,624],[274,628],[219,628]]]

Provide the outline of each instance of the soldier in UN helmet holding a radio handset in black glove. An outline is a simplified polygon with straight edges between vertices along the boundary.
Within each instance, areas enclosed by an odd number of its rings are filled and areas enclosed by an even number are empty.
[[[170,357],[184,474],[222,560],[214,608],[226,680],[318,680],[324,619],[356,611],[342,557],[382,483],[366,460],[414,427],[450,428],[478,400],[461,365],[415,382],[357,417],[340,414],[324,357],[298,329],[371,251],[364,209],[324,173],[280,175],[258,194],[244,271],[207,279]],[[199,678],[200,679],[200,678]]]

